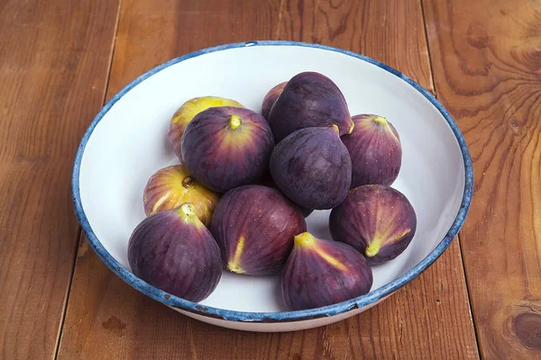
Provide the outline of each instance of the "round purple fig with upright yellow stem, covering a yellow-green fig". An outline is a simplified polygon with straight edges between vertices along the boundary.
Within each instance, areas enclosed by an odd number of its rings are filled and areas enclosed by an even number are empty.
[[[267,121],[252,110],[232,106],[199,112],[182,136],[182,157],[190,174],[218,193],[257,182],[273,148]]]

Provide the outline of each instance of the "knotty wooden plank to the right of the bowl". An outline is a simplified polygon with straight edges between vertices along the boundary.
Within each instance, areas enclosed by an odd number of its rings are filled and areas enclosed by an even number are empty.
[[[541,2],[424,5],[436,91],[474,163],[461,240],[481,356],[541,358]]]

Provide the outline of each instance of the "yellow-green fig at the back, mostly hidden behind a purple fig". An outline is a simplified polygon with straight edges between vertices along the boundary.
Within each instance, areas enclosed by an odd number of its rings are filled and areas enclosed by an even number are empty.
[[[179,109],[173,114],[167,136],[180,161],[182,161],[182,134],[184,133],[184,130],[186,130],[188,122],[192,121],[197,113],[202,112],[209,107],[216,106],[244,107],[241,103],[237,103],[231,99],[225,99],[224,97],[202,96],[194,97],[193,99],[188,100],[186,103],[183,103],[182,106],[180,106]]]

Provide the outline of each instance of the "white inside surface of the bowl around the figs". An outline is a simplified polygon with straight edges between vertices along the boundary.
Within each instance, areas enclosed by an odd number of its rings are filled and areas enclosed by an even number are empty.
[[[170,117],[189,98],[232,98],[259,112],[266,92],[302,71],[329,76],[352,115],[377,113],[396,127],[403,162],[393,184],[417,212],[417,233],[395,260],[373,267],[372,291],[425,258],[445,237],[461,206],[464,163],[443,115],[426,97],[385,69],[327,49],[246,46],[202,53],[163,68],[135,85],[105,113],[87,141],[79,190],[89,225],[112,257],[129,269],[126,251],[144,218],[142,190],[160,167],[178,163],[166,133]],[[315,211],[308,230],[330,238],[330,211]],[[286,311],[277,276],[225,273],[205,305],[234,311]]]

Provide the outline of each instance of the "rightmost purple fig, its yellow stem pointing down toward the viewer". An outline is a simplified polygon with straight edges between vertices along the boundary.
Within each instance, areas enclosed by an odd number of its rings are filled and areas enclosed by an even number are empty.
[[[398,257],[417,229],[417,215],[408,198],[387,185],[351,190],[331,211],[331,236],[357,249],[370,265]]]

